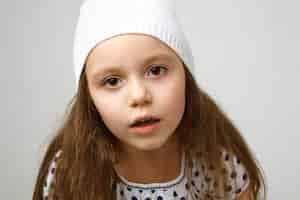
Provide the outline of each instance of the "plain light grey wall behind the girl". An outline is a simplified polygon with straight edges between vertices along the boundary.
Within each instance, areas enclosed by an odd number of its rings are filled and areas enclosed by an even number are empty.
[[[81,1],[1,3],[1,199],[31,199],[53,130],[75,94]],[[259,159],[268,199],[299,199],[299,1],[176,1],[197,81]]]

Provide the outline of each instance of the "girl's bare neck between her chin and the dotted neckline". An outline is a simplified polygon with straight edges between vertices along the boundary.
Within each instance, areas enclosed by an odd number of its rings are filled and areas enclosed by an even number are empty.
[[[177,139],[169,139],[152,151],[128,150],[115,165],[116,172],[130,182],[141,184],[174,180],[180,174],[183,152]]]

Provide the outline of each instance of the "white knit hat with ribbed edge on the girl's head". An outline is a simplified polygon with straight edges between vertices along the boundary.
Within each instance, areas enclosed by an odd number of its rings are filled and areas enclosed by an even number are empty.
[[[86,58],[99,42],[124,33],[143,33],[167,44],[194,73],[190,46],[177,21],[174,0],[86,0],[74,37],[74,72],[78,86]]]

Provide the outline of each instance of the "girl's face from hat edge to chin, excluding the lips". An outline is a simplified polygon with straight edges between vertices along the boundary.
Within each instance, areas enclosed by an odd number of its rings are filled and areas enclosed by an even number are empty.
[[[170,142],[185,108],[185,73],[173,50],[154,37],[124,34],[98,44],[86,63],[92,100],[105,125],[125,149],[156,150]],[[140,116],[160,119],[140,134]]]

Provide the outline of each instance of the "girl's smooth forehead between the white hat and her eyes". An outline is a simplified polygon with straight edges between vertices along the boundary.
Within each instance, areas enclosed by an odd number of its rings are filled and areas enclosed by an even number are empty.
[[[124,34],[99,43],[91,50],[86,64],[89,70],[98,71],[101,70],[100,66],[134,66],[144,64],[149,59],[175,61],[179,58],[159,39],[144,34]]]

